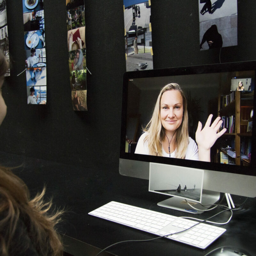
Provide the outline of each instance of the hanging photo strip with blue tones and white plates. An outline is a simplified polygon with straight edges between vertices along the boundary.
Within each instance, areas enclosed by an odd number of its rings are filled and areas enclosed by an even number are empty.
[[[46,104],[46,54],[43,0],[22,0],[28,104]]]

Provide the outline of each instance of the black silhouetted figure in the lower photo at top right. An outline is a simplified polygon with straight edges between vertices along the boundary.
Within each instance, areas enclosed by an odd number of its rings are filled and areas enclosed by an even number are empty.
[[[209,49],[222,47],[222,36],[218,32],[216,25],[212,25],[209,29],[206,30],[200,44],[200,49],[203,49],[202,45],[205,41],[207,42]]]

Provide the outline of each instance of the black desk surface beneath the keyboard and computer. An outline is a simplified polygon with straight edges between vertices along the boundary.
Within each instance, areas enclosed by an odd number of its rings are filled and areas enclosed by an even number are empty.
[[[59,226],[59,232],[74,238],[69,253],[75,256],[94,255],[89,245],[105,248],[110,244],[131,239],[150,239],[154,235],[125,227],[107,220],[88,215],[88,212],[106,204],[117,201],[175,216],[192,216],[205,219],[220,211],[192,215],[185,212],[165,209],[156,205],[167,196],[148,192],[148,180],[121,176],[118,170],[102,172],[81,166],[60,164],[40,159],[28,158],[0,152],[0,163],[5,166],[17,166],[14,170],[28,185],[31,195],[46,184],[46,197],[53,196],[57,207],[65,207],[67,212]],[[246,189],[246,188],[245,188]],[[235,203],[244,202],[244,197],[233,196]],[[224,212],[213,221],[225,222],[230,212]],[[214,248],[233,245],[243,248],[255,255],[256,246],[256,200],[249,198],[240,211],[233,212],[232,220],[223,226],[227,231],[206,250],[200,250],[185,244],[160,238],[151,242],[124,243],[108,249],[115,255],[205,255]],[[72,241],[64,239],[65,242]],[[85,244],[86,243],[86,244]],[[75,247],[74,247],[74,244]],[[77,248],[79,250],[76,250]],[[72,248],[72,249],[71,249]],[[102,254],[104,255],[104,254]],[[106,255],[106,254],[105,254]]]

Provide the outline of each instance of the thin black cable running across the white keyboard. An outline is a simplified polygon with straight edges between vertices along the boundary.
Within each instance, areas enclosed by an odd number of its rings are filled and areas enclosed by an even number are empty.
[[[244,200],[244,202],[243,202],[242,204],[236,206],[236,207],[233,208],[233,209],[236,209],[236,208],[238,208],[238,207],[241,207],[241,206],[247,201],[247,199],[248,199],[248,197],[246,197],[246,199]],[[223,198],[221,199],[221,201],[222,201],[222,200],[223,200]],[[223,210],[223,211],[221,211],[221,212],[218,212],[218,213],[214,214],[213,216],[211,216],[211,217],[209,217],[209,218],[207,218],[207,219],[205,219],[205,220],[199,221],[198,223],[196,223],[195,225],[193,225],[193,226],[190,227],[190,228],[187,228],[187,229],[185,229],[185,230],[182,230],[182,231],[179,231],[179,232],[176,232],[176,233],[173,233],[173,234],[168,234],[168,235],[164,235],[164,236],[157,236],[157,237],[154,237],[154,238],[151,238],[151,239],[144,239],[144,240],[124,240],[124,241],[117,242],[117,243],[115,243],[115,244],[110,244],[108,247],[106,247],[106,248],[102,249],[100,252],[98,252],[95,256],[100,255],[101,252],[104,252],[104,251],[106,251],[108,248],[110,248],[110,247],[112,247],[112,246],[114,246],[114,245],[117,245],[117,244],[127,243],[127,242],[149,242],[149,241],[153,241],[153,240],[156,240],[156,239],[165,237],[165,236],[172,236],[172,235],[177,235],[177,234],[183,233],[183,232],[188,231],[189,229],[194,228],[195,226],[197,226],[197,225],[199,225],[199,224],[201,224],[201,223],[203,223],[203,222],[205,222],[205,221],[207,221],[207,220],[212,219],[213,217],[219,215],[219,214],[222,213],[222,212],[232,211],[233,209],[229,209],[229,208],[228,208],[228,209],[226,209],[226,210]],[[117,224],[119,224],[119,223],[117,223]]]

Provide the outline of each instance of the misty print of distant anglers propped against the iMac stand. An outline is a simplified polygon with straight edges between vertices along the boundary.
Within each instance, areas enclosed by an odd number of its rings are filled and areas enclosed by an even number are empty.
[[[204,170],[151,163],[149,191],[201,202]]]

